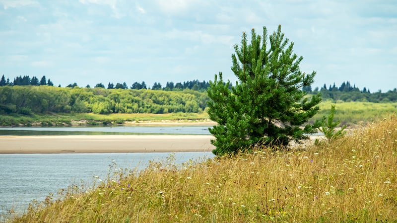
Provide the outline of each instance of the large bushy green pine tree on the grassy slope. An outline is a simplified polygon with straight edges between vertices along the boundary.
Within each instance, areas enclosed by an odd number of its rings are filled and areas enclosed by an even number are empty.
[[[269,38],[269,43],[267,42]],[[321,121],[304,125],[318,111],[320,94],[304,97],[302,87],[310,86],[315,72],[300,71],[302,57],[292,52],[293,43],[284,38],[281,26],[272,35],[257,35],[252,29],[251,43],[243,33],[241,46],[232,55],[236,86],[215,74],[207,89],[208,114],[217,125],[209,128],[215,140],[215,155],[238,152],[252,146],[287,146],[300,143],[321,126]],[[303,126],[303,128],[300,128]]]

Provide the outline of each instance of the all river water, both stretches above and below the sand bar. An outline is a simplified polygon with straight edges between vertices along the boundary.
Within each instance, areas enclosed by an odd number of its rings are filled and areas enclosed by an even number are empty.
[[[208,126],[185,127],[60,127],[0,128],[0,135],[209,135]],[[1,143],[1,140],[0,140]],[[0,154],[0,215],[13,208],[26,210],[32,200],[71,185],[91,186],[93,176],[105,179],[113,161],[118,167],[139,169],[149,160],[161,161],[170,153]],[[211,152],[176,152],[175,162],[212,158]],[[0,216],[1,220],[1,216]]]

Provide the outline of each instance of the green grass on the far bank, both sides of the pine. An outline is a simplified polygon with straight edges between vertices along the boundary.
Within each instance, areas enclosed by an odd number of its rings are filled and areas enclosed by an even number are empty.
[[[331,101],[319,104],[320,112],[311,122],[328,116],[331,110]],[[335,104],[335,118],[341,121],[341,125],[365,125],[375,121],[375,117],[387,117],[396,113],[397,103],[372,103],[372,102],[341,102]],[[194,122],[205,121],[209,116],[202,113],[167,113],[167,114],[109,114],[100,115],[94,113],[64,113],[64,114],[36,114],[26,115],[1,115],[0,126],[69,126],[69,125],[120,125],[126,122],[160,122],[179,121]]]

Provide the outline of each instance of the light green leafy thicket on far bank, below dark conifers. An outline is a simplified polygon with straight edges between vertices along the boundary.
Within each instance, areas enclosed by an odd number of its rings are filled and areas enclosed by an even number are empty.
[[[206,92],[55,86],[2,86],[0,113],[172,113],[202,112]]]

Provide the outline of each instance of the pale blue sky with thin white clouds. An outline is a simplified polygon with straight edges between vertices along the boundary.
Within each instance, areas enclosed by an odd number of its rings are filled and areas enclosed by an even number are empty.
[[[0,75],[55,85],[237,80],[233,45],[278,25],[312,87],[397,87],[395,0],[0,0]]]

